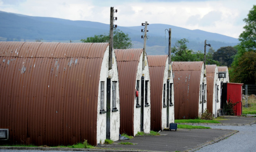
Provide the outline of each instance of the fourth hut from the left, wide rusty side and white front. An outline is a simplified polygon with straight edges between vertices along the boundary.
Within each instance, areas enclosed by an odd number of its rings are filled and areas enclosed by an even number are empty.
[[[207,106],[203,61],[172,62],[172,73],[175,119],[199,117]]]

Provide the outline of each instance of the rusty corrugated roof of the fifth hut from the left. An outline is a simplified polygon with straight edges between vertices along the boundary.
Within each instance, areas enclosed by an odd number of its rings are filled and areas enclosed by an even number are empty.
[[[207,109],[213,113],[213,88],[215,85],[215,69],[216,65],[206,65],[206,84],[207,84]]]

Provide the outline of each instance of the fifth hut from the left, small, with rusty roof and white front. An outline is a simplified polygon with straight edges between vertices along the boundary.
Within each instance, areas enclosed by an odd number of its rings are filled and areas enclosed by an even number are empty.
[[[216,65],[206,65],[207,109],[214,117],[220,115],[220,81]]]

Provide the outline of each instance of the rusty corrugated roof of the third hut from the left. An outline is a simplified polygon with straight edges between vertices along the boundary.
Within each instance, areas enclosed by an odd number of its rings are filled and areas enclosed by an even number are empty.
[[[148,55],[150,75],[150,104],[151,129],[162,130],[162,92],[164,83],[164,70],[168,55]]]

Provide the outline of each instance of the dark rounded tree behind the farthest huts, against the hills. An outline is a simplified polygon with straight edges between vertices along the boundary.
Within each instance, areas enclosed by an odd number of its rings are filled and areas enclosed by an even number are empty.
[[[213,53],[213,60],[219,61],[222,66],[230,67],[236,52],[237,50],[231,46],[221,47]]]

